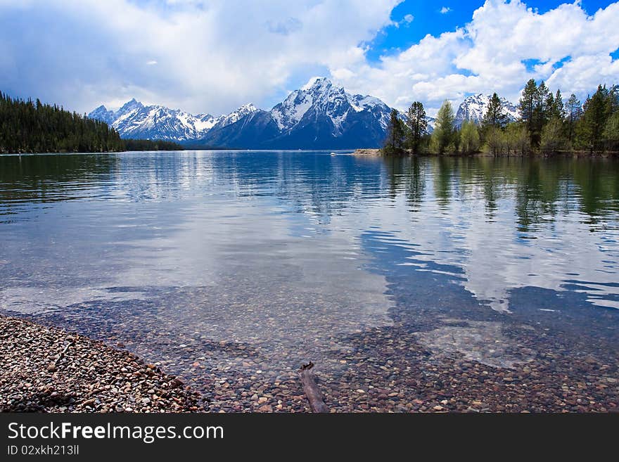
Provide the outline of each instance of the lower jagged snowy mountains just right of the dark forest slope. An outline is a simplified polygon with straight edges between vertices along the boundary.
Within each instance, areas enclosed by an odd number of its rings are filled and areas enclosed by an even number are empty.
[[[214,127],[234,124],[255,110],[257,109],[253,104],[245,104],[234,112],[219,117],[206,113],[192,115],[161,105],[145,106],[133,98],[115,112],[101,105],[88,117],[110,124],[122,138],[191,141],[203,138]]]

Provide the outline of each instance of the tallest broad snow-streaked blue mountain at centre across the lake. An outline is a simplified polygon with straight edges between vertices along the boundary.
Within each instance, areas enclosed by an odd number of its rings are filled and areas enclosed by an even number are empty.
[[[353,95],[314,77],[270,111],[257,110],[203,142],[229,148],[337,149],[381,146],[391,109],[374,96]]]

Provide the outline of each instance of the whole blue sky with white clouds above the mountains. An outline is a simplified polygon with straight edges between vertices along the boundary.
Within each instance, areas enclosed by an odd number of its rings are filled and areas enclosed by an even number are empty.
[[[619,1],[0,0],[0,91],[70,110],[136,98],[270,109],[309,78],[433,115],[525,82],[619,83]]]

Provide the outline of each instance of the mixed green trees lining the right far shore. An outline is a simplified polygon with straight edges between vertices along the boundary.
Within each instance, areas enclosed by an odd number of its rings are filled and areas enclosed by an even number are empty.
[[[404,115],[392,110],[383,152],[478,153],[523,155],[570,150],[593,152],[619,150],[619,85],[599,85],[581,103],[572,94],[563,101],[544,81],[530,79],[518,102],[518,120],[510,121],[501,98],[494,93],[479,125],[465,120],[455,124],[452,104],[438,110],[432,133],[423,104],[415,101]]]

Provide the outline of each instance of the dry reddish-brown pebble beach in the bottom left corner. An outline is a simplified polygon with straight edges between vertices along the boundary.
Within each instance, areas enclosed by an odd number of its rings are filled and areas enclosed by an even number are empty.
[[[0,316],[0,411],[200,410],[200,394],[132,353]]]

